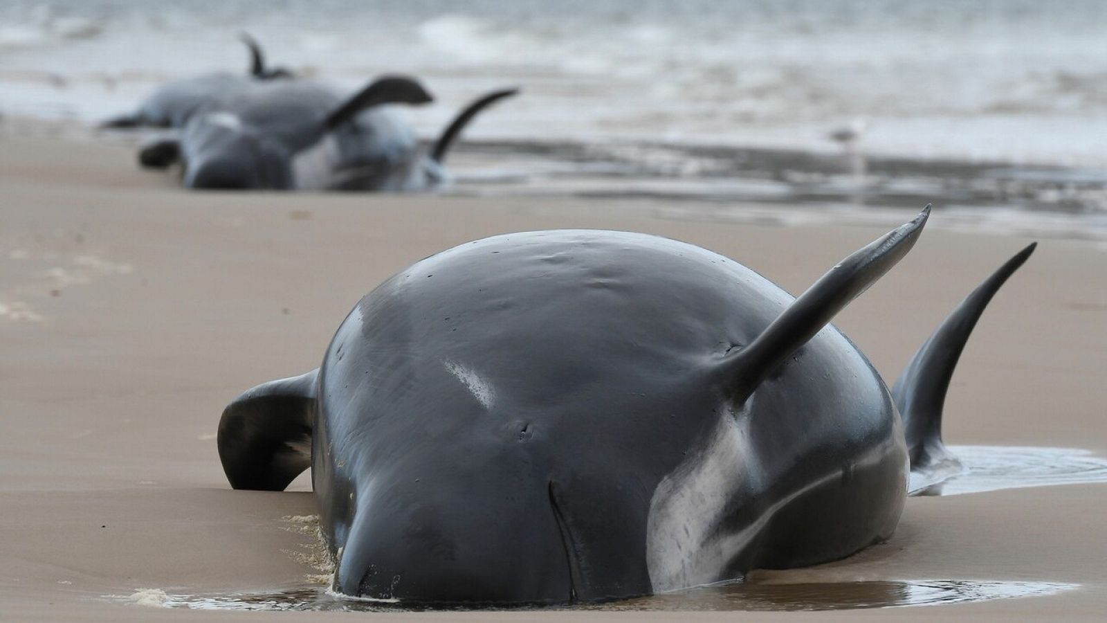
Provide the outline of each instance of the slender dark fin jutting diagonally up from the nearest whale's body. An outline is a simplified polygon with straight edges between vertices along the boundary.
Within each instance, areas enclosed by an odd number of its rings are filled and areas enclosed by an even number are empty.
[[[743,402],[785,359],[807,344],[849,302],[868,289],[911,249],[930,216],[930,205],[910,223],[892,229],[839,262],[748,346],[723,365],[731,396]]]

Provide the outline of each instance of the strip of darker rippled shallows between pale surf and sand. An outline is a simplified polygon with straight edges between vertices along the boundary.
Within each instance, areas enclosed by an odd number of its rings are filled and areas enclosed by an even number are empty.
[[[625,141],[458,152],[448,194],[635,198],[681,221],[881,227],[932,203],[935,227],[1107,241],[1107,170],[1097,167]]]

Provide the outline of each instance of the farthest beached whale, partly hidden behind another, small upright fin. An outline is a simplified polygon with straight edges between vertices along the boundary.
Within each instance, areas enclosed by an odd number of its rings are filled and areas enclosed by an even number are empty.
[[[154,90],[138,105],[138,110],[110,119],[102,127],[183,127],[188,119],[205,106],[248,89],[252,83],[265,80],[289,79],[293,74],[284,68],[266,65],[261,45],[249,33],[239,34],[239,40],[250,51],[250,69],[246,74],[215,72],[174,80]]]

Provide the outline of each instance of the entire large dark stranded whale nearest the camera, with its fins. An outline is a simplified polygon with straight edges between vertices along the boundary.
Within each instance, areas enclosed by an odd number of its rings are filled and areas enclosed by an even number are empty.
[[[956,357],[1033,251],[942,324],[893,402],[828,323],[928,214],[798,298],[643,234],[457,246],[363,297],[319,369],[231,402],[224,469],[281,490],[310,467],[333,589],[401,603],[610,600],[848,556],[891,535],[909,470],[948,456]]]

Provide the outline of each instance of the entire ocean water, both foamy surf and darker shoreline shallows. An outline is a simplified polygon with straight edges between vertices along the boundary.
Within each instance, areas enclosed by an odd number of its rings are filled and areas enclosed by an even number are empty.
[[[0,114],[93,123],[245,71],[242,30],[349,89],[420,76],[427,137],[521,86],[467,133],[462,192],[1107,213],[1101,0],[3,0]],[[935,162],[975,167],[946,188]]]

